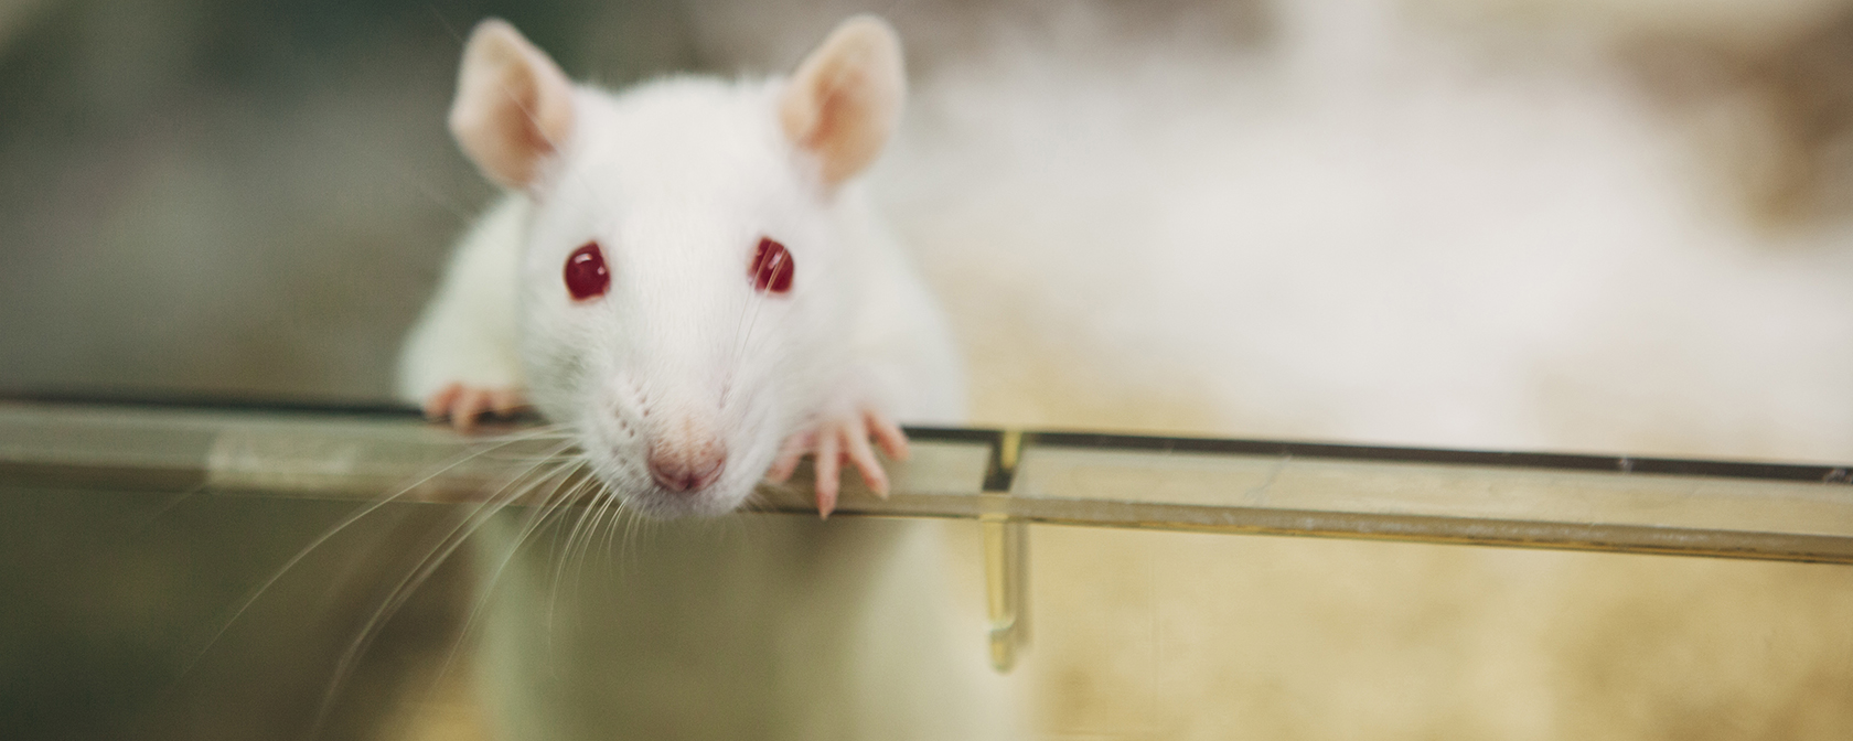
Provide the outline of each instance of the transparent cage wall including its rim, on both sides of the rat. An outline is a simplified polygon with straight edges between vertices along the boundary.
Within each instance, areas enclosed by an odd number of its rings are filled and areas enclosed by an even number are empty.
[[[1846,728],[1844,467],[914,433],[895,495],[841,513],[971,522],[947,598],[1040,737],[1623,737],[1701,698],[1718,737]],[[339,658],[523,452],[389,409],[6,402],[17,721],[474,737],[456,567]],[[808,517],[800,491],[737,517]]]

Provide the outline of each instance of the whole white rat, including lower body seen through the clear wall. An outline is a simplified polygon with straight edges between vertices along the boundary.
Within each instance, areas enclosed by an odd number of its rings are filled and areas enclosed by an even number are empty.
[[[893,421],[964,415],[945,320],[854,182],[904,85],[899,41],[871,17],[789,80],[615,94],[482,22],[450,130],[511,193],[411,332],[402,396],[463,428],[532,398],[573,430],[604,496],[656,521],[730,513],[808,452],[821,513],[843,458],[884,493],[871,435],[901,458]],[[726,521],[632,532],[608,589],[561,587],[558,548],[485,530],[500,734],[1015,734],[975,609],[960,630],[947,604],[934,524]]]

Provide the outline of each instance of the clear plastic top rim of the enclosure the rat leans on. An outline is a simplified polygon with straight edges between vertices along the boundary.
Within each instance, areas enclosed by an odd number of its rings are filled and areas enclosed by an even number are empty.
[[[461,437],[393,408],[11,398],[0,400],[0,489],[480,502],[510,484],[510,459],[556,445],[536,430]],[[838,513],[1853,563],[1844,465],[910,435],[915,456],[891,463],[893,496],[851,476]],[[804,469],[763,485],[758,508],[812,513],[808,482]]]

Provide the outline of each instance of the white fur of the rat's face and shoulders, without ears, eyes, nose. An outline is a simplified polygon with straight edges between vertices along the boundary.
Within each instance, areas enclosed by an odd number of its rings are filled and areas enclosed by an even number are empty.
[[[708,515],[737,508],[778,443],[826,411],[960,419],[943,319],[860,185],[813,183],[778,130],[778,87],[676,78],[617,96],[574,91],[578,126],[534,195],[510,195],[460,245],[408,341],[404,398],[526,378],[548,419],[584,430],[619,496]],[[760,235],[791,250],[789,296],[756,295],[747,280]],[[593,239],[611,289],[574,302],[565,257]],[[523,367],[510,367],[517,356]],[[645,409],[712,421],[728,448],[721,484],[654,496]]]

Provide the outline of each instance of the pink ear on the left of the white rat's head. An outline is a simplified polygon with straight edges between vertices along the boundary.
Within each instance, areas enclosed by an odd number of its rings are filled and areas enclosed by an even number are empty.
[[[532,185],[573,133],[573,83],[515,26],[487,19],[463,44],[450,133],[489,180]]]

